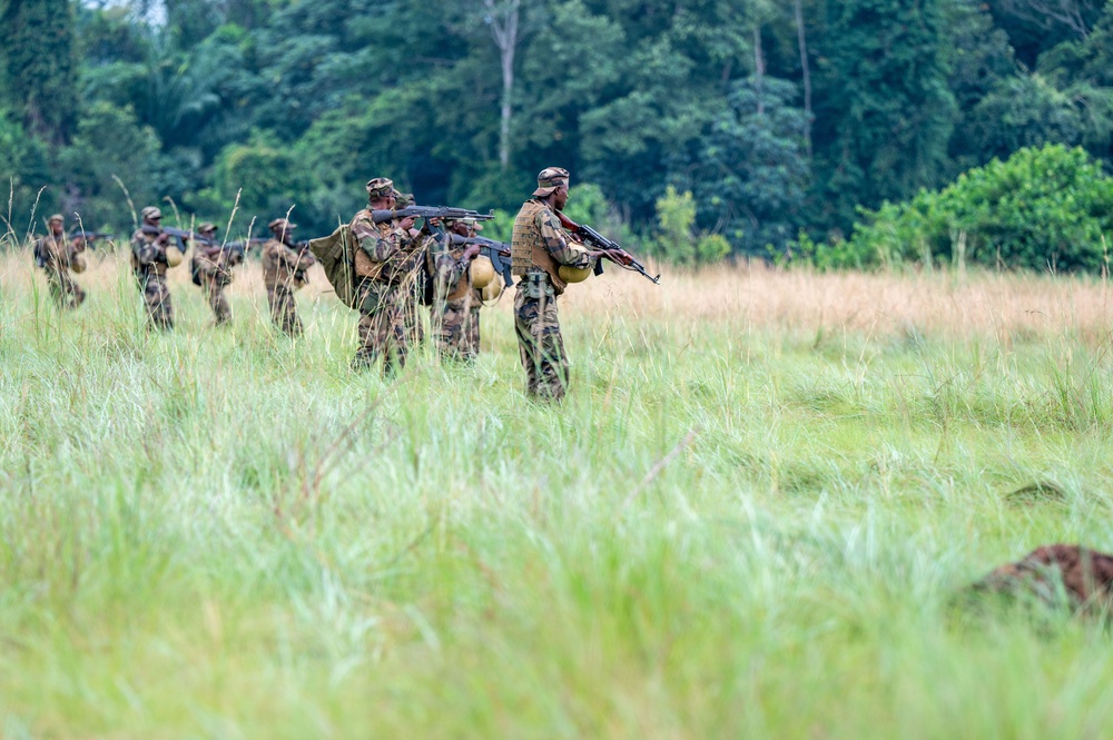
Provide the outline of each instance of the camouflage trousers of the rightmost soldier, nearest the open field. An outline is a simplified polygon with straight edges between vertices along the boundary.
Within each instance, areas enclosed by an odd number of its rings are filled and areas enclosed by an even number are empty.
[[[514,333],[525,368],[526,393],[541,401],[561,401],[568,389],[568,357],[556,316],[556,297],[529,297],[528,283],[514,295]]]

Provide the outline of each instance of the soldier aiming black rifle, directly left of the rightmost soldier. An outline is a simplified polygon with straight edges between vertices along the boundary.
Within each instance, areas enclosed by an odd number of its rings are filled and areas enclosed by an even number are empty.
[[[464,218],[447,223],[452,234],[473,237],[482,228],[474,219]],[[454,249],[434,260],[435,294],[433,300],[433,330],[441,356],[471,362],[480,353],[480,306],[483,296],[472,287],[472,259],[479,255],[477,244],[466,249]],[[461,265],[462,263],[462,265]]]

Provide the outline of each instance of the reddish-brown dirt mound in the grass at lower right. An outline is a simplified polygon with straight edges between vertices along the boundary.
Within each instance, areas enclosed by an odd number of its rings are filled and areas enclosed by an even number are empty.
[[[994,570],[971,586],[978,592],[1028,595],[1061,604],[1113,608],[1113,555],[1078,545],[1045,545]]]

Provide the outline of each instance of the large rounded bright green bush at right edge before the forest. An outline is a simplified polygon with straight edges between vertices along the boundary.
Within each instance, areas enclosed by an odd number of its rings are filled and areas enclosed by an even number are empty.
[[[942,190],[885,204],[868,220],[846,245],[843,265],[939,259],[1099,272],[1109,267],[1113,178],[1082,149],[1022,149]]]

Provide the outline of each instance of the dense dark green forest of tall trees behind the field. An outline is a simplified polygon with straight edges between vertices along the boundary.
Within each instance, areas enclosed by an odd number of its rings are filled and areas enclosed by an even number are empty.
[[[322,233],[375,176],[512,214],[555,165],[673,262],[868,263],[854,245],[896,204],[1047,145],[1096,178],[1086,234],[1113,226],[1101,0],[0,0],[0,28],[19,234],[53,211],[129,229],[129,198]]]

